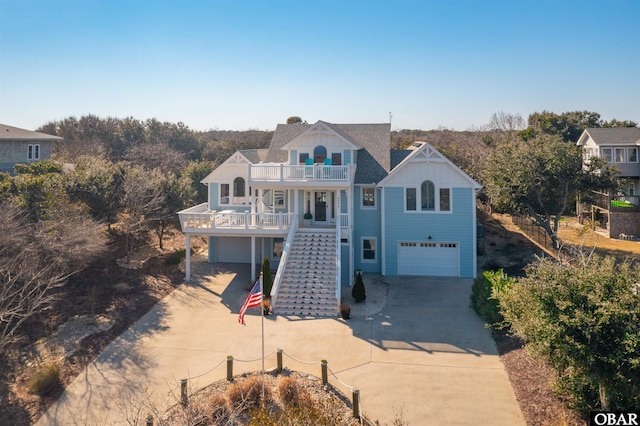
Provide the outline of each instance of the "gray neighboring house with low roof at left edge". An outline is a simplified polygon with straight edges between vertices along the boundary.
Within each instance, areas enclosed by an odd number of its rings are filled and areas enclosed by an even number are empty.
[[[16,164],[29,164],[51,158],[58,136],[0,124],[0,172],[13,174]]]

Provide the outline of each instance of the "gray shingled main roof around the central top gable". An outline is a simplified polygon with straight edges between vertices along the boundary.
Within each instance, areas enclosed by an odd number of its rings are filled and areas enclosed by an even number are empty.
[[[361,147],[358,151],[358,168],[355,183],[378,183],[391,170],[391,125],[379,124],[332,124],[322,122],[340,136]],[[287,161],[287,152],[282,147],[300,136],[314,124],[278,124],[273,133],[267,162]]]

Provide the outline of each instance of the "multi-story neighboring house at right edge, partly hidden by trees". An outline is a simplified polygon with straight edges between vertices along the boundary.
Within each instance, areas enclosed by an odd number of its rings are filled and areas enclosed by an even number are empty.
[[[594,193],[589,203],[578,203],[578,214],[599,223],[612,238],[640,236],[640,128],[587,129],[577,141],[584,161],[602,157],[614,165],[622,180],[621,194]]]

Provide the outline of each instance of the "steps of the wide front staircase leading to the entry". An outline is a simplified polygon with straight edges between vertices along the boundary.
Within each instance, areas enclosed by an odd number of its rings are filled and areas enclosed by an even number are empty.
[[[296,232],[278,291],[277,314],[338,315],[336,250],[335,229]]]

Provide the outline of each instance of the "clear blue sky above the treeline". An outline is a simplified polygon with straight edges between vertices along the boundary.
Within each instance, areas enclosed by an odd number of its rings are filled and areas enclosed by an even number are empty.
[[[0,122],[640,121],[640,1],[0,0]]]

